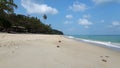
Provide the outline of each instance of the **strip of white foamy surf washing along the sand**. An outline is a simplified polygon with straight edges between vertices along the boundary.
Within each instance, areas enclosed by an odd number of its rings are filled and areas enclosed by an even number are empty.
[[[92,44],[92,45],[100,46],[100,47],[105,47],[105,48],[120,52],[120,46],[115,45],[113,42],[109,43],[109,42],[103,42],[103,41],[94,41],[94,40],[88,40],[88,39],[82,39],[82,38],[75,38],[73,36],[65,36],[65,38],[74,39],[78,42],[88,43],[88,44]],[[119,44],[119,43],[116,43],[116,44]]]

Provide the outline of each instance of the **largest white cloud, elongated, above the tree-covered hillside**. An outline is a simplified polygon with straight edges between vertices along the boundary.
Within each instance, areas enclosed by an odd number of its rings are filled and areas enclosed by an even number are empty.
[[[29,14],[57,14],[58,10],[47,4],[37,4],[31,0],[21,0],[21,5]]]

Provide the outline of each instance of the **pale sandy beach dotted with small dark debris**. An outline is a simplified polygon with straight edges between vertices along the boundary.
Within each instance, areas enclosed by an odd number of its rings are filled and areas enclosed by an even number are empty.
[[[120,52],[60,35],[0,33],[0,68],[120,68]]]

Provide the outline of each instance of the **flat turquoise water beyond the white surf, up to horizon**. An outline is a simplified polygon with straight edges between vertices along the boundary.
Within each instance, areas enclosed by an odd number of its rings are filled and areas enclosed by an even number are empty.
[[[82,38],[101,42],[120,43],[120,35],[72,35],[75,38]]]

